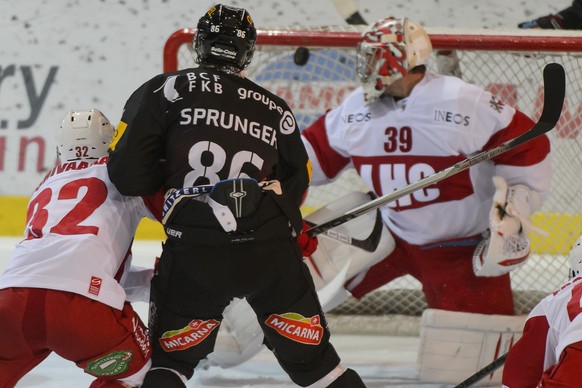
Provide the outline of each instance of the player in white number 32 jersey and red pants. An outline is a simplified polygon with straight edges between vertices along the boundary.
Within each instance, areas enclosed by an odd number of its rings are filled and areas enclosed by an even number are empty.
[[[161,218],[163,196],[115,189],[113,131],[96,109],[68,112],[57,131],[59,163],[32,194],[24,239],[0,277],[2,387],[52,352],[95,376],[92,388],[136,387],[149,369],[146,326],[127,300],[149,300],[153,270],[131,267],[130,247],[143,217]]]

